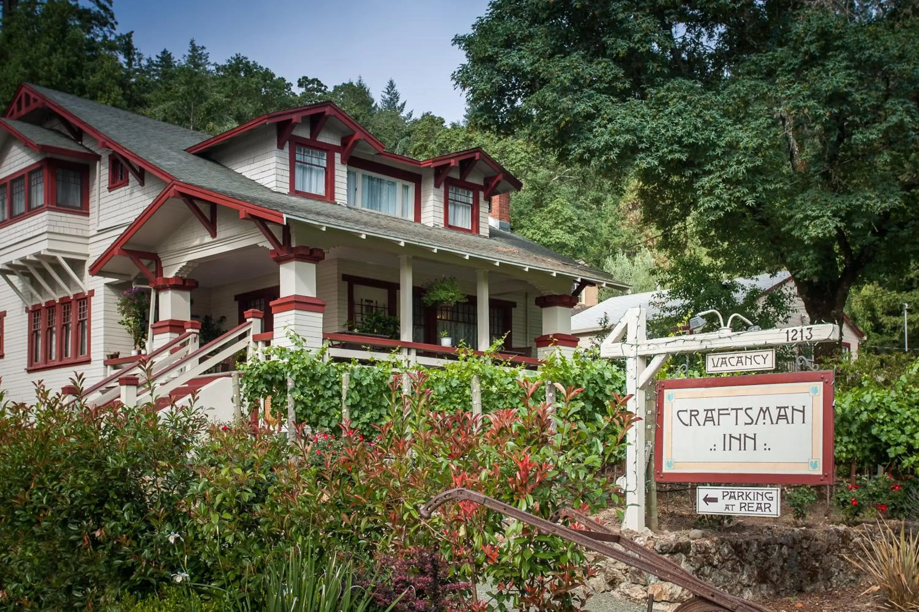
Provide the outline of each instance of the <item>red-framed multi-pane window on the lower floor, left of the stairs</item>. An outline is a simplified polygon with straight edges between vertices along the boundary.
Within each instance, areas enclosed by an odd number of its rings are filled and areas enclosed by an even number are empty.
[[[32,306],[28,313],[28,370],[46,370],[89,361],[89,300],[92,293]]]

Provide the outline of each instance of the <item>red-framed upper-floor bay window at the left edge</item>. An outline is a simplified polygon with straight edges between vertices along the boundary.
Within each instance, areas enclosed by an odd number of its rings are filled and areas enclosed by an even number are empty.
[[[0,224],[45,208],[89,212],[89,166],[45,159],[0,178]]]

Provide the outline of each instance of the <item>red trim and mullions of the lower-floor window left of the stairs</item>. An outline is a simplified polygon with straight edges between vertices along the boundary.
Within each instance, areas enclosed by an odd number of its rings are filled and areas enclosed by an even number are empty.
[[[73,297],[62,297],[57,300],[50,300],[44,304],[36,304],[26,309],[26,330],[28,338],[27,365],[26,372],[40,372],[43,370],[53,370],[55,368],[69,367],[80,363],[89,363],[93,361],[93,308],[92,297],[95,291],[85,294],[76,294]],[[78,316],[79,303],[86,301],[86,354],[80,355],[80,319]],[[71,323],[70,323],[70,348],[71,357],[63,358],[63,305],[72,304],[71,306]],[[55,346],[54,358],[50,359],[47,355],[48,347],[48,310],[54,308],[54,328],[55,328]],[[39,313],[40,317],[40,344],[39,359],[35,359],[35,343],[32,340],[32,317],[34,313]]]

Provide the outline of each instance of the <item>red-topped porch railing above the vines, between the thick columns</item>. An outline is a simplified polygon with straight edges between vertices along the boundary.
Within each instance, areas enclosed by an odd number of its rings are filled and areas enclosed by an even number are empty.
[[[343,359],[367,359],[368,351],[374,357],[385,359],[392,351],[400,351],[411,363],[443,365],[444,363],[456,360],[460,351],[457,347],[445,347],[439,344],[403,342],[402,340],[345,333],[323,334],[323,339],[329,343],[329,356]],[[476,355],[485,354],[483,351],[471,352]],[[539,359],[512,353],[495,353],[494,358],[504,362],[523,365],[525,367],[537,367],[542,363]]]

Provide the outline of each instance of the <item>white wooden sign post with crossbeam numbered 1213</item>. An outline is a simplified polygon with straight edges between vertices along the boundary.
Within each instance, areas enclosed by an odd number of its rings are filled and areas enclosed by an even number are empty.
[[[626,393],[631,395],[628,408],[643,419],[626,436],[629,446],[626,449],[626,513],[622,526],[636,530],[645,526],[644,474],[648,463],[646,434],[651,429],[644,411],[645,389],[671,355],[811,344],[839,339],[839,328],[830,323],[737,332],[722,328],[705,334],[648,339],[647,317],[645,308],[630,308],[600,345],[601,357],[625,358]],[[651,362],[648,362],[648,358],[651,358]]]

